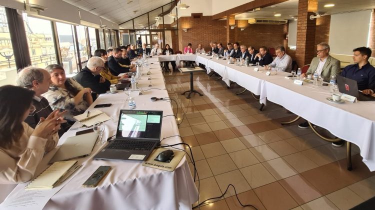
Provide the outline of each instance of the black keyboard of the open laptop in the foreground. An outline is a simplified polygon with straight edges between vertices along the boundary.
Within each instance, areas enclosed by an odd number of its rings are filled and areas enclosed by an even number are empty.
[[[129,150],[151,150],[155,141],[114,139],[107,148]]]

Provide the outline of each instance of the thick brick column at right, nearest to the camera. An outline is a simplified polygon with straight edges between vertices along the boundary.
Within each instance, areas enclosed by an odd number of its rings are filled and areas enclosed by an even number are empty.
[[[295,60],[300,67],[309,64],[316,56],[314,51],[316,19],[310,20],[310,15],[314,14],[312,11],[316,10],[317,0],[298,0]]]

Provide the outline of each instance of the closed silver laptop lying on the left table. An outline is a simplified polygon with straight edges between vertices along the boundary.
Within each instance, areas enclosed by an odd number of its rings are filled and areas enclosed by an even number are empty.
[[[87,156],[95,145],[97,133],[89,132],[66,138],[49,163]]]

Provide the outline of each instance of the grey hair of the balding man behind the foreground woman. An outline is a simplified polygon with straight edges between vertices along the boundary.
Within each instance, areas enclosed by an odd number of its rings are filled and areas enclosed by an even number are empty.
[[[38,67],[25,67],[18,73],[17,86],[31,88],[32,81],[36,80],[41,83],[44,80],[43,68]]]

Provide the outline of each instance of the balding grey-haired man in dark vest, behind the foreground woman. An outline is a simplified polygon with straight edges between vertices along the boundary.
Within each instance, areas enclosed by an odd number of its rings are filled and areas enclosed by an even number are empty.
[[[18,73],[17,85],[34,90],[35,94],[32,99],[32,105],[35,106],[35,111],[30,113],[24,120],[30,127],[35,128],[40,118],[47,118],[52,113],[52,108],[49,106],[48,100],[41,96],[41,94],[48,91],[51,83],[51,76],[48,71],[37,67],[25,67]],[[66,132],[71,124],[61,123],[61,129],[58,130],[58,136],[61,137]]]

